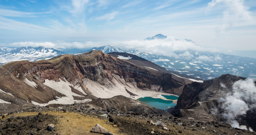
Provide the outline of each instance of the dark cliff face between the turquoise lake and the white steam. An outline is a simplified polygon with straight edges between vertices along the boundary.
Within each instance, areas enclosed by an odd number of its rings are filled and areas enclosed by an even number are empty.
[[[195,104],[198,102],[207,102],[211,105],[215,100],[224,97],[232,89],[233,83],[240,79],[245,78],[226,74],[203,83],[193,82],[185,85],[183,93],[178,98],[177,109],[190,109],[197,106]],[[223,89],[224,85],[226,89]]]

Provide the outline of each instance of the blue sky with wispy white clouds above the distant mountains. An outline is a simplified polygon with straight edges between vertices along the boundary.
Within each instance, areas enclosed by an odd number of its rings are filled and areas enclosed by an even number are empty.
[[[77,46],[86,48],[160,33],[205,48],[256,50],[256,0],[0,0],[5,46],[90,42]]]

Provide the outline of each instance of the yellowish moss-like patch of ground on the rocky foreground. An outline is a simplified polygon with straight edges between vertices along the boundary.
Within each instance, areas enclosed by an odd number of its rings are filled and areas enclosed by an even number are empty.
[[[67,112],[63,113],[61,111],[44,111],[43,114],[48,113],[48,115],[54,115],[58,118],[58,125],[55,125],[56,131],[61,135],[79,135],[79,134],[94,134],[90,131],[92,127],[96,124],[100,124],[102,127],[107,129],[109,132],[116,134],[118,133],[118,128],[113,127],[108,123],[108,121],[104,121],[104,119],[93,118],[89,115],[81,115],[78,113]],[[24,112],[24,113],[14,113],[12,114],[15,117],[18,116],[30,116],[30,115],[38,115],[38,112]],[[12,115],[8,115],[4,119],[10,118]]]

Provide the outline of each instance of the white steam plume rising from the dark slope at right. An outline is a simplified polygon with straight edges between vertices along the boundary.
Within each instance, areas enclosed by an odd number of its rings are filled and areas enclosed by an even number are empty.
[[[252,78],[236,81],[232,86],[232,91],[220,99],[221,108],[224,110],[220,115],[232,127],[247,129],[246,126],[239,125],[237,119],[241,115],[246,115],[248,110],[256,109],[256,86],[254,82],[255,79]],[[251,128],[249,130],[252,131]]]

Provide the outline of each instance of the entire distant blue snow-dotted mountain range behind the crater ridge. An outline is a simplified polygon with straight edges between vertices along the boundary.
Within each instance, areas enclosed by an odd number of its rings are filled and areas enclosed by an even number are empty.
[[[146,38],[148,40],[162,40],[168,38],[162,34]],[[184,40],[192,42],[192,40]],[[0,65],[8,62],[28,60],[36,61],[41,59],[49,59],[62,54],[81,54],[92,50],[101,50],[104,53],[126,52],[142,57],[146,60],[154,62],[170,71],[176,71],[185,75],[190,75],[199,79],[213,79],[222,74],[233,74],[242,77],[256,77],[256,59],[240,57],[216,52],[202,52],[189,49],[186,51],[174,51],[175,55],[157,55],[146,51],[139,51],[137,48],[124,49],[114,46],[101,46],[98,48],[87,49],[48,49],[44,47],[20,47],[6,48],[0,47]]]

